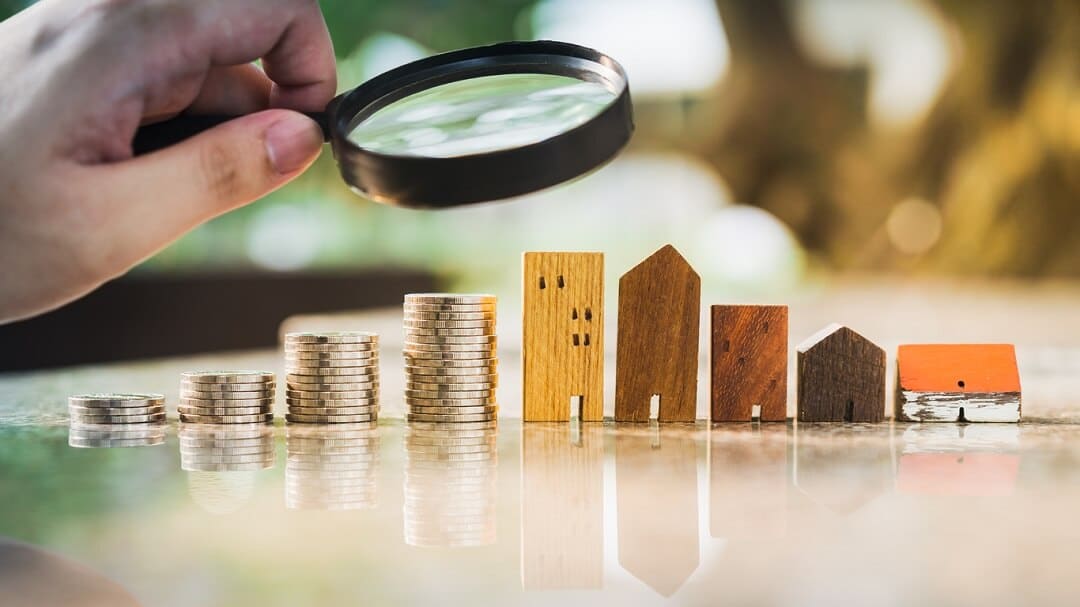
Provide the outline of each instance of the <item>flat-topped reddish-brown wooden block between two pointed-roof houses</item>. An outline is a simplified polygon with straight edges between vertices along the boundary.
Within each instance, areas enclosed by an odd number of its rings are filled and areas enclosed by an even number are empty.
[[[712,420],[787,419],[787,306],[712,307]]]

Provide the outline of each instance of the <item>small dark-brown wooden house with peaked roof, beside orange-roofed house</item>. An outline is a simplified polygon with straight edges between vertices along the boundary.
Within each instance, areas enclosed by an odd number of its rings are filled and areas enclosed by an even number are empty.
[[[885,350],[829,325],[798,348],[799,421],[885,419]]]

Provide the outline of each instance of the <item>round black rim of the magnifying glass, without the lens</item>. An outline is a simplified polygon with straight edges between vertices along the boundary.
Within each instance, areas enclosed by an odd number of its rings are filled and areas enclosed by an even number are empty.
[[[525,146],[428,158],[376,152],[349,134],[387,105],[441,84],[503,73],[553,73],[605,83],[616,98],[570,131]],[[549,188],[611,160],[634,131],[622,66],[585,46],[540,40],[501,42],[427,57],[382,73],[328,108],[330,143],[341,177],[361,195],[409,208],[444,208],[503,200]]]

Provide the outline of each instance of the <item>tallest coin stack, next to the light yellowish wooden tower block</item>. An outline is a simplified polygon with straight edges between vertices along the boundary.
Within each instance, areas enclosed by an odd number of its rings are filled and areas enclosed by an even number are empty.
[[[405,296],[406,419],[495,423],[494,295]]]

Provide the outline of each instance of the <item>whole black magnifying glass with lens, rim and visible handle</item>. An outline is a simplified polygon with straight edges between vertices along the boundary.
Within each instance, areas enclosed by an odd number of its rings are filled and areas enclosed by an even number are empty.
[[[427,57],[309,114],[341,177],[383,204],[446,208],[572,179],[615,158],[634,131],[626,73],[566,42],[503,42]],[[180,116],[139,129],[147,153],[233,117]]]

